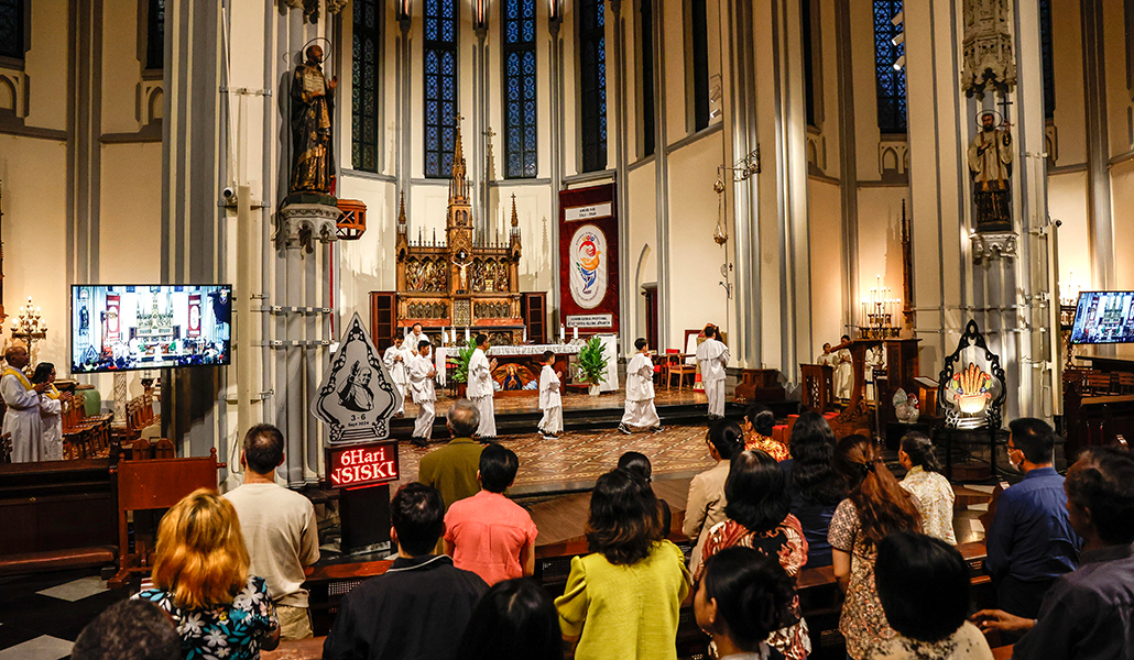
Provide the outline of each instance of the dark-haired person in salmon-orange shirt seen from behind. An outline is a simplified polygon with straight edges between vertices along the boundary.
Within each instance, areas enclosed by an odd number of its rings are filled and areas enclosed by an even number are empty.
[[[472,571],[489,585],[535,573],[532,516],[503,491],[516,480],[519,458],[511,449],[488,445],[476,479],[481,491],[445,514],[445,554],[457,568]]]

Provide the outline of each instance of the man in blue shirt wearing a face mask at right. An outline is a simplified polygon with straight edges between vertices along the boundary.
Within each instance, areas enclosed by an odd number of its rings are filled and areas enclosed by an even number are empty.
[[[1067,516],[1064,478],[1051,466],[1051,427],[1032,418],[1017,419],[1008,427],[1008,461],[1024,473],[1024,480],[997,502],[984,566],[997,586],[1000,609],[1034,619],[1056,578],[1078,566],[1083,541]]]

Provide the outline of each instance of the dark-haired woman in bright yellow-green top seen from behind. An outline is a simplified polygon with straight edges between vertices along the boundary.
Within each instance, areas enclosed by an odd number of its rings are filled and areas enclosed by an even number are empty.
[[[572,559],[556,599],[576,660],[676,660],[677,619],[689,592],[685,556],[665,540],[658,500],[640,477],[615,470],[591,496],[592,550]]]

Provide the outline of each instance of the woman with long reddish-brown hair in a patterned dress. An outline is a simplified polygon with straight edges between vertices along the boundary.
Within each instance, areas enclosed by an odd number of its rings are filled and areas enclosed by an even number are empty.
[[[846,592],[839,632],[847,654],[862,660],[873,645],[894,637],[874,586],[878,543],[896,531],[921,531],[917,500],[906,492],[865,436],[848,436],[835,447],[835,470],[846,481],[849,495],[831,517],[827,538],[831,543],[835,577]]]

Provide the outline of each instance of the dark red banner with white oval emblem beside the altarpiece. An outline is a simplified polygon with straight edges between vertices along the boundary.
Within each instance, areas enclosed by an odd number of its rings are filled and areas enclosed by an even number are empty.
[[[618,331],[615,185],[559,192],[560,318],[584,332]]]

